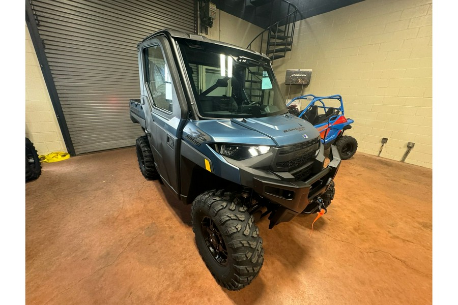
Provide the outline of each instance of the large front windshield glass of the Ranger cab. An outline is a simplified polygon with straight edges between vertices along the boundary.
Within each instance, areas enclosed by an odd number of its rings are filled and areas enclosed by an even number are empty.
[[[288,112],[273,71],[260,56],[205,42],[179,43],[200,116],[249,118]]]

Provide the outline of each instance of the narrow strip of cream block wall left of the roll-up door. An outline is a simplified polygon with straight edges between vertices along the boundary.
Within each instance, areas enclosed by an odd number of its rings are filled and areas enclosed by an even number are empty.
[[[37,54],[25,25],[25,136],[39,155],[67,151]]]

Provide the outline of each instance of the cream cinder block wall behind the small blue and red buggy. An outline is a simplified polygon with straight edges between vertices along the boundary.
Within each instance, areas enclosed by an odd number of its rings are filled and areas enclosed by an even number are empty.
[[[273,67],[285,95],[301,86],[284,85],[287,69],[313,69],[302,94],[340,94],[346,131],[358,151],[432,168],[432,2],[366,0],[296,24],[292,52]]]

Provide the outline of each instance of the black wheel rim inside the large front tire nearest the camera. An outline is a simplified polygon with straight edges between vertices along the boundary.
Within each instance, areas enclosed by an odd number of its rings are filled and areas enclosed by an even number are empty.
[[[221,266],[227,266],[227,250],[224,240],[216,224],[207,216],[202,219],[202,233],[205,244],[215,261]]]

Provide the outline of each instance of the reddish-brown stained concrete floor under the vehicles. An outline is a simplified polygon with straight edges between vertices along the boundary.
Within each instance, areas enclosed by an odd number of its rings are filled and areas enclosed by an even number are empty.
[[[25,185],[28,304],[430,304],[432,171],[357,153],[328,213],[268,229],[241,291],[197,252],[190,206],[138,169],[134,148],[43,164]]]

